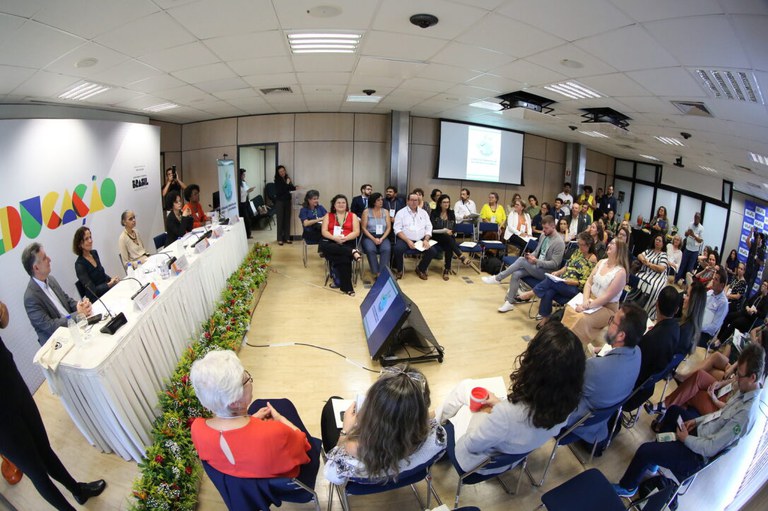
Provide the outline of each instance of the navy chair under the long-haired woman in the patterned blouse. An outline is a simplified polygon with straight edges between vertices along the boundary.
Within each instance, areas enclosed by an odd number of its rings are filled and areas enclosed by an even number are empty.
[[[443,456],[443,453],[440,452],[436,454],[432,459],[427,461],[426,463],[419,465],[418,467],[414,467],[410,470],[407,470],[405,472],[401,472],[397,479],[387,479],[386,481],[382,482],[380,479],[362,479],[362,478],[350,478],[347,480],[346,483],[341,485],[335,485],[331,484],[331,488],[328,491],[328,509],[330,510],[333,505],[333,490],[336,489],[336,492],[339,494],[339,500],[341,500],[341,508],[344,511],[349,511],[349,496],[350,495],[373,495],[374,493],[383,493],[385,491],[389,490],[395,490],[397,488],[403,488],[405,486],[410,486],[413,490],[413,494],[416,496],[416,500],[419,501],[419,509],[429,509],[430,501],[432,496],[435,497],[435,500],[437,501],[438,505],[442,505],[442,501],[440,500],[440,497],[437,495],[437,492],[435,492],[434,487],[432,486],[432,465],[437,462],[441,457]],[[416,487],[414,486],[419,481],[426,480],[427,481],[427,502],[426,507],[424,507],[424,503],[421,500],[421,497],[419,496],[419,492],[416,491]]]

